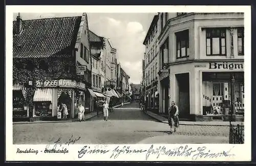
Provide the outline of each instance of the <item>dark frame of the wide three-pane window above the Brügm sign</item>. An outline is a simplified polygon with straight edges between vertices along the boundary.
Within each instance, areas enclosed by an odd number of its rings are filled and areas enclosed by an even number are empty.
[[[215,30],[216,32],[219,30],[220,35],[212,35],[212,30]],[[222,37],[222,31],[224,31],[225,37]],[[205,35],[205,47],[206,47],[206,56],[227,56],[227,32],[225,27],[210,27],[206,29],[206,35]],[[207,36],[207,33],[210,33],[210,37]],[[219,54],[212,54],[212,38],[219,38]],[[207,54],[207,39],[210,39],[210,54]],[[221,40],[225,39],[225,54],[222,54],[222,45]]]

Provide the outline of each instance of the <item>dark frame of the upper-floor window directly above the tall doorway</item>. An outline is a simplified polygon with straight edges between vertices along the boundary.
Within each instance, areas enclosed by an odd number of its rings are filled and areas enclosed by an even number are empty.
[[[189,49],[189,30],[184,30],[180,32],[175,33],[176,36],[176,59],[182,59],[189,57],[189,54],[187,52],[187,48]],[[185,56],[182,56],[181,52],[181,41],[185,40]],[[179,45],[178,45],[179,42]],[[178,56],[178,46],[180,47],[180,55]]]

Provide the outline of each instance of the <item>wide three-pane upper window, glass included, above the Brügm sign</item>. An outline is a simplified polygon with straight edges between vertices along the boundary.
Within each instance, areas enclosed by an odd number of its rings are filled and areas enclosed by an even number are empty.
[[[226,55],[226,29],[206,30],[207,56]]]

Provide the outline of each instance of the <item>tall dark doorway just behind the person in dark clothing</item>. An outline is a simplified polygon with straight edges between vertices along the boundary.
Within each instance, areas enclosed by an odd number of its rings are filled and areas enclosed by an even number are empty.
[[[179,107],[179,117],[188,119],[190,115],[189,105],[189,73],[175,74],[178,83],[178,96],[176,98]]]

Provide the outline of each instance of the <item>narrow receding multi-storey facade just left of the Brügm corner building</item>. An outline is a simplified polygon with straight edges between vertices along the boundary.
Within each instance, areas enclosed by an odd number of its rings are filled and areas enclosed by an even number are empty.
[[[146,103],[145,106],[148,109],[157,109],[159,107],[159,95],[158,95],[158,57],[159,57],[159,17],[155,15],[150,28],[147,31],[146,37],[143,41],[145,45],[144,54],[144,82],[146,90]]]

